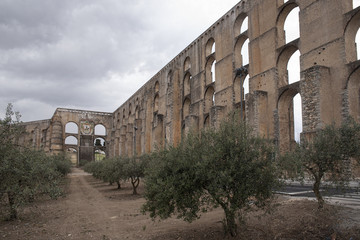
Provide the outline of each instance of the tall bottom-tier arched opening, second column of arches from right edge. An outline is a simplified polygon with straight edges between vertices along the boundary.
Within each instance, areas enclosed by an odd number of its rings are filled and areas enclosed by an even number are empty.
[[[300,140],[302,131],[301,96],[297,89],[289,88],[281,94],[278,114],[279,148],[281,152],[290,151]]]

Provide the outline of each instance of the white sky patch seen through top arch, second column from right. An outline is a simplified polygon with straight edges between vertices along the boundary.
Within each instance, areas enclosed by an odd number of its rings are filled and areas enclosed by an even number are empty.
[[[296,7],[291,10],[287,15],[284,23],[285,39],[286,43],[294,41],[300,38],[300,21],[299,21],[300,8]]]

